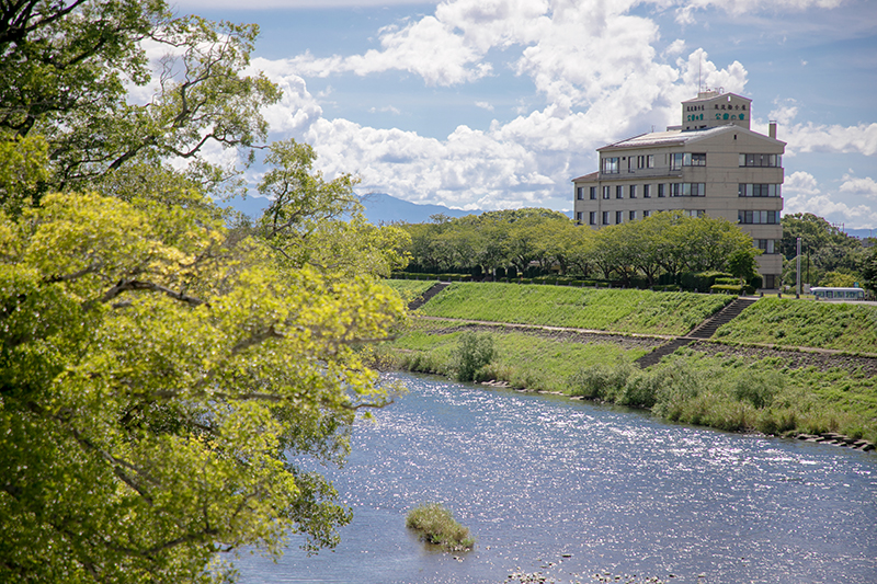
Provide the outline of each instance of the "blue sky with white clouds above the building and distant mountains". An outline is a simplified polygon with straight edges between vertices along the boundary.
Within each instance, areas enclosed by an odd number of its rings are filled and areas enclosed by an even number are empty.
[[[572,208],[596,148],[681,123],[698,88],[787,142],[785,214],[877,234],[876,0],[180,0],[257,23],[272,140],[358,194]],[[252,171],[258,173],[258,169]],[[251,180],[258,179],[251,174]],[[251,193],[252,194],[252,193]]]

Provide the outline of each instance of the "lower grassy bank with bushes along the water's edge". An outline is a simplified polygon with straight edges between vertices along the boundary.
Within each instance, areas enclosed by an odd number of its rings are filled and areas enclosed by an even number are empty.
[[[813,440],[833,433],[859,447],[877,442],[877,359],[696,343],[647,369],[634,365],[663,342],[412,319],[378,355],[387,368],[449,378],[463,378],[468,358],[478,366],[467,380],[647,409],[685,424]],[[486,345],[487,363],[467,356]]]

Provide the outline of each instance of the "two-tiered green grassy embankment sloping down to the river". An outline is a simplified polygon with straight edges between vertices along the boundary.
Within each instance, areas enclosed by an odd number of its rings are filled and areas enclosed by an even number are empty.
[[[395,284],[391,284],[395,286]],[[550,286],[458,284],[417,313],[438,318],[684,334],[729,298],[685,293],[594,290]],[[763,304],[762,304],[763,302]],[[648,347],[631,337],[588,342],[512,328],[492,328],[498,356],[476,375],[513,387],[561,391],[648,408],[683,423],[770,434],[840,432],[877,442],[877,377],[854,362],[795,367],[776,355],[734,355],[733,344],[816,346],[877,353],[877,307],[791,299],[762,300],[719,329],[725,355],[683,348],[641,370]],[[385,358],[398,368],[454,375],[459,322],[414,319]]]

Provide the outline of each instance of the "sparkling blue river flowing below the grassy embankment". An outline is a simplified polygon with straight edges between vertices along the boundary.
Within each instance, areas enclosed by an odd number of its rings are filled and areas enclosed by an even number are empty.
[[[238,561],[243,584],[877,582],[877,456],[661,422],[555,396],[398,375],[329,472],[341,545]],[[428,549],[406,513],[438,502],[477,538]]]

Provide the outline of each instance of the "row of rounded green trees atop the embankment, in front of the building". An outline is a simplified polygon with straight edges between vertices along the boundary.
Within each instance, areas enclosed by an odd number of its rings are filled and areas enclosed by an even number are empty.
[[[432,271],[474,270],[490,273],[531,265],[562,274],[618,279],[642,278],[651,286],[667,274],[728,272],[748,279],[760,251],[752,238],[725,219],[692,218],[682,211],[657,213],[639,221],[594,231],[548,209],[483,213],[402,226],[411,237],[406,248],[411,266]]]

